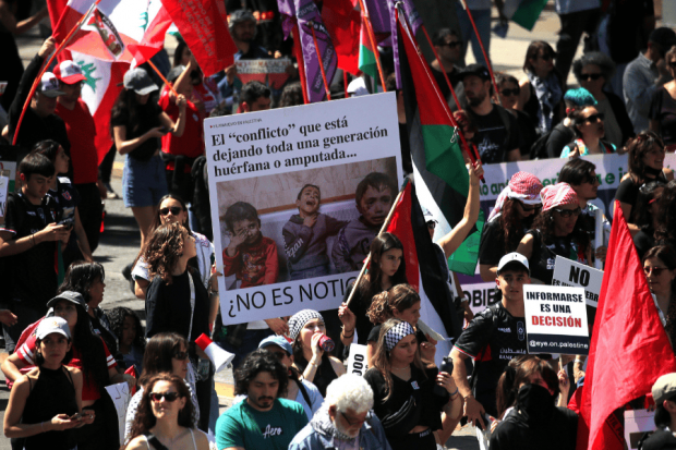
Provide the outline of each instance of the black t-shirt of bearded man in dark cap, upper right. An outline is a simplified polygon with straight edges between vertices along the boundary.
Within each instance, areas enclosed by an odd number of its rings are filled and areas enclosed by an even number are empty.
[[[505,162],[507,154],[519,148],[519,125],[517,119],[502,107],[493,105],[486,115],[479,115],[471,109],[469,115],[479,131],[474,135],[476,148],[484,165]],[[505,127],[508,124],[509,131]]]

